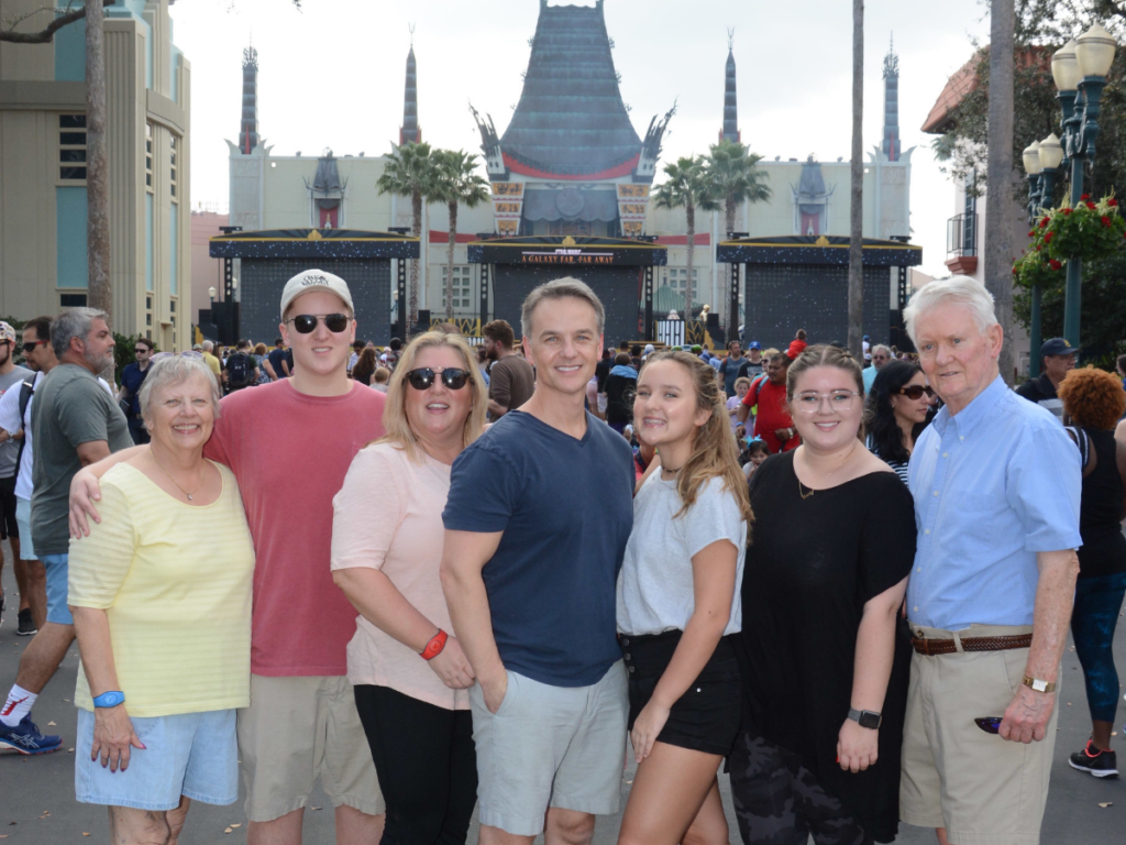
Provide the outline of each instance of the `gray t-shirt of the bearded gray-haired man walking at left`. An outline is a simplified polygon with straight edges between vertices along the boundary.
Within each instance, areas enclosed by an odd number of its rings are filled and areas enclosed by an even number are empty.
[[[125,415],[86,367],[60,364],[35,391],[32,540],[39,554],[66,554],[70,482],[82,462],[78,446],[106,441],[110,452],[133,445]]]

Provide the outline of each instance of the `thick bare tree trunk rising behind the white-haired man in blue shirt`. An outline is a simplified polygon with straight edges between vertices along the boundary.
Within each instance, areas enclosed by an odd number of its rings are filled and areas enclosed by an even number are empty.
[[[985,287],[993,294],[997,320],[1004,332],[998,367],[1007,382],[1015,376],[1012,354],[1012,42],[1013,0],[990,5],[989,159],[985,184]],[[1036,350],[1033,350],[1036,354]]]

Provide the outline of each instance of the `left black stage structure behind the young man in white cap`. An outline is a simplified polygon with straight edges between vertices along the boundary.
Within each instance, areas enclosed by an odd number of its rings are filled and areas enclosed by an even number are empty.
[[[419,257],[419,239],[395,232],[351,229],[275,229],[231,232],[211,239],[211,257],[241,261],[239,301],[213,303],[225,310],[200,312],[217,328],[218,340],[233,345],[240,337],[269,344],[277,337],[282,288],[298,273],[322,269],[340,276],[356,305],[357,337],[381,346],[406,337],[406,259]],[[391,263],[395,263],[394,274]],[[393,281],[394,279],[394,281]],[[392,284],[399,292],[399,321],[391,324]],[[220,318],[220,319],[216,319]],[[202,328],[204,333],[207,331]]]

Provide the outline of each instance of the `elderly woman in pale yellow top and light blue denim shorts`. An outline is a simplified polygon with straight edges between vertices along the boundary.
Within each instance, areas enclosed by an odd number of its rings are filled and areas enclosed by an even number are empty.
[[[231,471],[205,461],[218,383],[198,356],[157,359],[152,442],[101,480],[100,523],[71,541],[82,671],[74,789],[115,843],[175,843],[191,799],[238,799],[235,709],[250,703],[254,550]]]

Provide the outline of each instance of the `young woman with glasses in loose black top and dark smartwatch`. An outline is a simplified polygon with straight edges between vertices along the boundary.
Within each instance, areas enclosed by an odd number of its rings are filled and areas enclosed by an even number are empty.
[[[787,375],[802,436],[751,478],[742,584],[743,727],[731,791],[747,845],[891,842],[910,667],[897,635],[911,493],[859,439],[860,367],[807,348]]]

